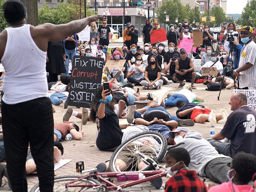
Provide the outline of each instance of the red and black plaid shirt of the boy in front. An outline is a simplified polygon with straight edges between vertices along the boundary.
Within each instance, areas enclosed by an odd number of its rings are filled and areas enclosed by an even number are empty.
[[[165,184],[165,192],[207,192],[196,171],[182,169]]]

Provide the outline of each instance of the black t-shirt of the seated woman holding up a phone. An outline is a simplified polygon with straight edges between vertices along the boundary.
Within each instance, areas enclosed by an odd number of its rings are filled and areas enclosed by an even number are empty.
[[[100,104],[98,109],[99,106]],[[121,144],[123,132],[119,126],[119,119],[108,104],[105,104],[105,117],[97,119],[96,122],[99,132],[96,145],[100,150],[112,149]]]

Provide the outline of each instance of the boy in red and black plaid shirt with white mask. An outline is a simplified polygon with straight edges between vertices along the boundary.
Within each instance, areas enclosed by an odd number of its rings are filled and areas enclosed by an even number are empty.
[[[196,171],[188,170],[190,156],[184,148],[170,149],[165,156],[166,170],[172,176],[165,184],[165,192],[206,192],[207,187]]]

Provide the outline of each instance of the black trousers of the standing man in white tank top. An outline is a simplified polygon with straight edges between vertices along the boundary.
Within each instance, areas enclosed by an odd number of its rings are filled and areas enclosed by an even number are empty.
[[[49,98],[18,104],[2,103],[2,128],[7,171],[13,192],[27,192],[28,144],[37,165],[40,191],[53,191],[53,110]]]

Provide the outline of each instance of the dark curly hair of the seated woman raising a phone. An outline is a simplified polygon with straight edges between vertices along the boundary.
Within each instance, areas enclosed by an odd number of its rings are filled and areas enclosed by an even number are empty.
[[[96,91],[95,91],[95,95],[94,95],[94,98],[93,98],[93,101],[91,103],[91,107],[90,107],[90,119],[95,123],[96,122],[96,112],[98,111],[98,106],[100,104],[100,99],[102,99],[102,96],[101,96],[101,93],[102,93],[102,90],[103,90],[103,86],[99,86]],[[112,90],[111,91],[111,94],[112,94]],[[115,105],[116,104],[116,101],[113,97],[112,101],[111,102],[108,102],[106,103],[106,105],[109,105],[110,108],[112,108],[113,110],[115,109]]]

